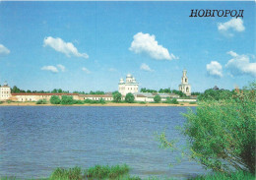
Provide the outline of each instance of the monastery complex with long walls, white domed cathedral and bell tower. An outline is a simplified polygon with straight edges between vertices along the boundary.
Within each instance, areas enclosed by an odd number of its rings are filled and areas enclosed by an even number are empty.
[[[191,86],[188,84],[187,71],[183,70],[183,75],[181,78],[181,84],[179,85],[179,90],[184,92],[186,95],[191,95]],[[118,84],[118,91],[122,94],[122,100],[125,99],[125,95],[129,92],[133,93],[136,101],[145,101],[152,102],[154,97],[159,94],[161,101],[169,98],[177,98],[178,101],[196,101],[196,99],[182,99],[179,98],[179,95],[175,93],[159,93],[159,92],[139,92],[139,83],[136,82],[135,78],[128,74],[124,82],[123,79],[120,79]],[[79,93],[12,93],[11,88],[5,83],[3,86],[0,86],[0,101],[6,101],[8,99],[13,101],[37,101],[39,99],[50,100],[52,95],[57,95],[61,98],[62,95],[71,95],[76,100],[99,100],[104,99],[107,101],[113,100],[112,93],[105,94],[79,94]]]

